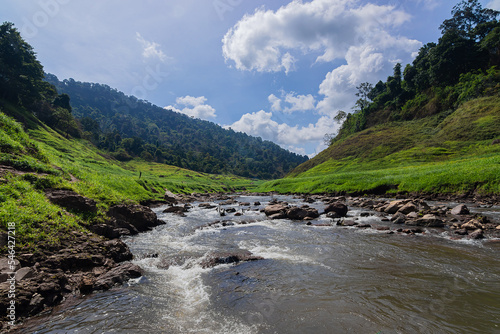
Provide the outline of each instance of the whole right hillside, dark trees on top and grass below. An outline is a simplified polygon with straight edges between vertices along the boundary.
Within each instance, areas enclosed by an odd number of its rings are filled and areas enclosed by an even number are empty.
[[[362,83],[330,146],[261,191],[500,192],[498,12],[461,1],[404,73]]]

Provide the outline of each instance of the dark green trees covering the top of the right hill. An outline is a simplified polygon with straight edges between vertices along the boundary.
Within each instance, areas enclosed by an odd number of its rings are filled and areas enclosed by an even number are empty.
[[[438,43],[424,45],[412,64],[376,85],[360,84],[354,112],[340,111],[338,134],[327,144],[371,126],[422,118],[456,109],[470,99],[500,91],[500,22],[498,11],[482,8],[477,0],[463,0],[440,26]]]

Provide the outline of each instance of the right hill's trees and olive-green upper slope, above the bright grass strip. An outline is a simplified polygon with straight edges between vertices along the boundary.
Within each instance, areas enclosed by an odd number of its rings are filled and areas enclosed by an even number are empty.
[[[361,83],[354,112],[340,111],[329,148],[296,168],[298,175],[329,160],[373,160],[405,150],[439,147],[442,160],[458,149],[500,136],[500,22],[498,11],[463,0],[440,26],[438,43],[412,64],[396,64],[376,85]],[[468,101],[481,98],[477,103]],[[327,137],[328,138],[328,137]],[[460,144],[458,144],[460,143]],[[411,159],[412,155],[408,156]]]

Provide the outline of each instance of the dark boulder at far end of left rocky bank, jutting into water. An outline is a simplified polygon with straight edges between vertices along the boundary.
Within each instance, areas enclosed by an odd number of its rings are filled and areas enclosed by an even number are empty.
[[[156,213],[153,210],[142,205],[115,205],[109,208],[107,215],[116,219],[116,227],[127,228],[132,234],[135,231],[128,226],[129,224],[139,232],[149,231],[153,227],[165,224],[156,217]],[[120,225],[120,222],[122,225]]]

